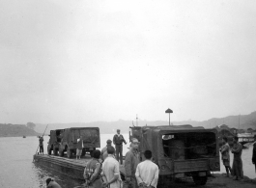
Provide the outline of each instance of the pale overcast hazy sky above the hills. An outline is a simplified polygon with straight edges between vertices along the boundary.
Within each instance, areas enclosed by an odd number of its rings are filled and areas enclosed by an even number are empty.
[[[0,1],[0,122],[256,110],[256,1]]]

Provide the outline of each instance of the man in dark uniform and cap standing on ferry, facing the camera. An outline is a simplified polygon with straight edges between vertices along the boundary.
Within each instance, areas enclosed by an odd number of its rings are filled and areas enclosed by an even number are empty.
[[[120,134],[120,129],[117,129],[117,134],[113,137],[113,143],[116,146],[117,161],[120,159],[120,164],[123,165],[123,143],[127,144],[124,136]]]

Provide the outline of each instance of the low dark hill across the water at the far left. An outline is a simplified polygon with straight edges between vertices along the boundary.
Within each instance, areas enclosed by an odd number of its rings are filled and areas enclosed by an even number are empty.
[[[35,130],[24,124],[0,124],[0,137],[38,136]]]

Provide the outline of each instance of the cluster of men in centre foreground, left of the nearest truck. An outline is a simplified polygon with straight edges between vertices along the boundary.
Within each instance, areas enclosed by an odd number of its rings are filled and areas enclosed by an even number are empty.
[[[105,148],[95,150],[93,159],[88,162],[84,170],[85,185],[90,188],[120,188],[122,179],[120,165],[123,165],[123,143],[127,144],[124,136],[117,130],[112,141],[107,140]],[[152,162],[152,151],[144,152],[145,161],[140,163],[139,142],[132,139],[125,157],[126,180],[124,188],[156,188],[158,167]],[[100,163],[100,158],[103,161]],[[119,163],[120,162],[120,163]]]

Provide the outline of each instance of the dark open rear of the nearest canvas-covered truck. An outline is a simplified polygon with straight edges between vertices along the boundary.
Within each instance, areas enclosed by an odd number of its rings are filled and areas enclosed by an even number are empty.
[[[164,134],[162,146],[164,155],[175,160],[210,158],[216,155],[213,132]]]

